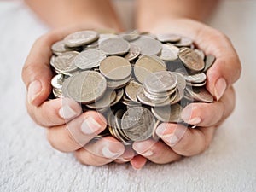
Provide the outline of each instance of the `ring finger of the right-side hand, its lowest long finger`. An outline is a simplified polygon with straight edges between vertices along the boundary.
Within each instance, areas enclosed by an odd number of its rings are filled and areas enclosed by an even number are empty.
[[[160,141],[156,142],[152,139],[143,142],[135,142],[132,148],[137,154],[157,164],[166,164],[181,158],[179,154],[176,154],[172,148],[165,143]]]

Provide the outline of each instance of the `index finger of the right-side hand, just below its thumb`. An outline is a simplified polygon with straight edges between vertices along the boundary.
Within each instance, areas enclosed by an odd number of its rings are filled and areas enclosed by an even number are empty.
[[[182,119],[191,125],[212,126],[223,121],[235,108],[235,92],[232,87],[225,91],[218,102],[189,104],[181,113]]]

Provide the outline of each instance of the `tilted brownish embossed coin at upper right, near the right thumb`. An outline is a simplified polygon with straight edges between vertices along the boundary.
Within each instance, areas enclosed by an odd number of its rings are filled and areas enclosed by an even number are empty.
[[[183,48],[179,51],[179,59],[183,61],[185,67],[193,71],[201,71],[205,67],[204,61],[201,59],[201,56],[196,54],[193,49]]]

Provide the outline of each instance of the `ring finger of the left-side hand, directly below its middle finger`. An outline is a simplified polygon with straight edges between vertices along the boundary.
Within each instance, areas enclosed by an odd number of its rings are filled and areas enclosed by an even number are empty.
[[[89,143],[75,152],[79,162],[89,166],[103,166],[119,158],[125,152],[125,147],[113,137],[103,137],[94,143]]]

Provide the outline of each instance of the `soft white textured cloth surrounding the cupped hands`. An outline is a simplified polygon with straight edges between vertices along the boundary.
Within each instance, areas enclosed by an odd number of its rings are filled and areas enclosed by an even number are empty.
[[[82,166],[73,154],[49,146],[44,129],[26,113],[20,78],[32,43],[48,29],[22,3],[1,1],[0,191],[256,191],[255,16],[255,1],[225,1],[212,20],[234,42],[244,70],[236,111],[210,148],[135,171],[128,164]]]

